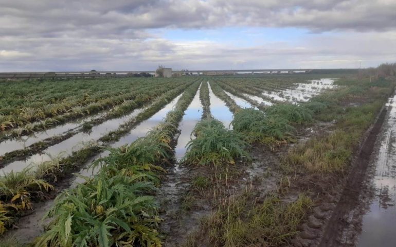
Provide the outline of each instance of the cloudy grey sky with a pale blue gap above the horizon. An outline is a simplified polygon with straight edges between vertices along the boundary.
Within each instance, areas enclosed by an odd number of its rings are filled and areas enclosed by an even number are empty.
[[[0,0],[0,72],[396,62],[396,0]]]

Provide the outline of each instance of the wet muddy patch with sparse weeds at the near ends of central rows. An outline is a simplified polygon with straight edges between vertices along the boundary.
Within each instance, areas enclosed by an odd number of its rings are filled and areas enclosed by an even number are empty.
[[[330,131],[331,123],[317,123],[310,128],[300,128],[298,143],[305,142],[309,137],[323,131]],[[160,217],[164,219],[161,231],[164,233],[167,247],[183,246],[189,237],[202,238],[200,246],[210,246],[206,234],[200,225],[205,217],[213,213],[217,204],[223,199],[238,196],[246,189],[257,195],[257,200],[264,199],[268,193],[279,189],[282,172],[279,170],[280,159],[292,145],[273,148],[254,145],[250,154],[253,162],[243,161],[228,171],[231,177],[227,181],[218,181],[215,171],[209,167],[185,167],[176,165],[169,169],[160,188]],[[192,185],[194,178],[202,176],[210,179],[208,189],[196,189]]]

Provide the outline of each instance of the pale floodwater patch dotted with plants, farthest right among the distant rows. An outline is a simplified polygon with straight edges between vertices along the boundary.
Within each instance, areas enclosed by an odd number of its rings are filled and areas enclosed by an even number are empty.
[[[294,89],[285,89],[280,92],[263,92],[262,94],[277,101],[292,101],[297,103],[308,101],[323,90],[333,89],[334,87],[336,87],[334,85],[334,79],[324,78],[311,80],[310,83],[297,83],[297,87]]]

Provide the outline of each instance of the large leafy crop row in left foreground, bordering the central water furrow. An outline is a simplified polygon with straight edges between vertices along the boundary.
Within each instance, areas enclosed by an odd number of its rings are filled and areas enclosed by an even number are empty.
[[[164,122],[145,137],[112,149],[99,161],[101,168],[94,178],[63,192],[49,212],[50,230],[35,240],[35,246],[57,245],[63,240],[73,245],[86,241],[95,246],[123,242],[159,246],[158,206],[153,196],[165,171],[162,167],[173,162],[173,136],[199,85],[192,84]],[[97,196],[90,197],[92,193]],[[70,230],[63,232],[59,227],[65,224]],[[92,227],[102,230],[94,233]],[[92,233],[84,234],[84,228]]]

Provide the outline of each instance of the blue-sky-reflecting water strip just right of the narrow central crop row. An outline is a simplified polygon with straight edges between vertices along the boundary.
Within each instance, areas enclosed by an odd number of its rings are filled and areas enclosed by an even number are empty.
[[[209,97],[210,97],[210,113],[212,116],[221,121],[225,128],[232,129],[230,123],[232,121],[232,112],[228,109],[225,102],[213,94],[209,83]]]

